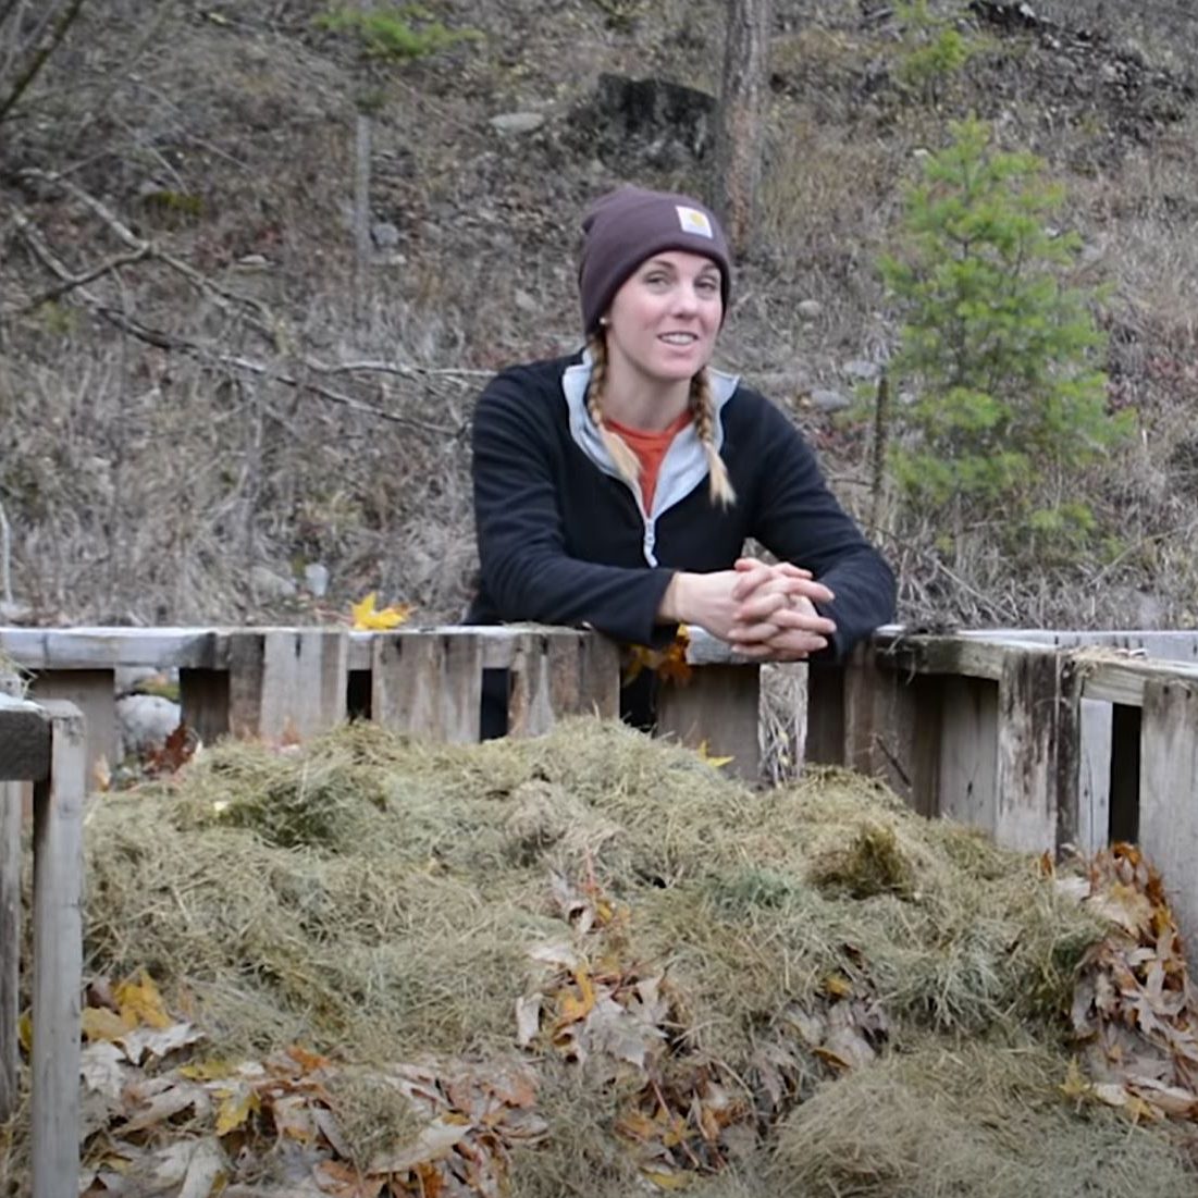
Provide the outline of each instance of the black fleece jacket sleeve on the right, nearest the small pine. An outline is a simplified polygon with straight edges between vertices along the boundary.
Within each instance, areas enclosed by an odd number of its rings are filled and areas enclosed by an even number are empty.
[[[763,468],[752,536],[781,559],[811,570],[835,594],[818,605],[836,622],[833,645],[821,657],[841,658],[894,619],[895,576],[828,489],[799,430],[768,400],[761,405]]]

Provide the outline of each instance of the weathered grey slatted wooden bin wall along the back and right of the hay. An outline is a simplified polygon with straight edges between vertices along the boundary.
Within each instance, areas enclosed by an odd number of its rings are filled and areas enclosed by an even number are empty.
[[[513,734],[574,712],[615,715],[610,642],[574,629],[0,629],[38,698],[83,709],[89,762],[115,754],[114,672],[179,671],[182,715],[223,733],[304,737],[346,714],[476,740],[486,671],[508,677]],[[1150,653],[1139,659],[1132,653]],[[1170,660],[1162,660],[1168,658]],[[664,686],[659,731],[756,780],[760,672],[696,635],[686,686]],[[1198,634],[882,629],[843,666],[812,666],[806,760],[884,778],[916,810],[1042,852],[1136,840],[1174,878],[1198,851]],[[1198,883],[1176,896],[1198,928]]]

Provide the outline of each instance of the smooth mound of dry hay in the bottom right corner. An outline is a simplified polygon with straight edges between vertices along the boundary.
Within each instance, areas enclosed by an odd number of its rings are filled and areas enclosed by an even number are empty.
[[[779,1198],[1178,1198],[1194,1175],[1158,1133],[1075,1113],[1066,1058],[1025,1033],[903,1052],[824,1084],[778,1136]]]

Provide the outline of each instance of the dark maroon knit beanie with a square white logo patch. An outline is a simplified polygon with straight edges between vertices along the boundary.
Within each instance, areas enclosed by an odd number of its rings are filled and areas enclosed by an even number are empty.
[[[720,268],[720,296],[728,309],[732,261],[724,230],[712,211],[688,195],[621,187],[600,196],[582,218],[579,290],[582,328],[599,327],[621,284],[653,254],[682,249],[709,258]]]

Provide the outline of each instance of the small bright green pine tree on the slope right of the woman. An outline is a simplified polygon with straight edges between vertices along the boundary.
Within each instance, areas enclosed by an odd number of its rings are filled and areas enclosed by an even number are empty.
[[[991,145],[974,119],[924,163],[906,195],[900,253],[882,271],[902,317],[893,374],[901,491],[945,533],[1003,515],[1009,547],[1075,552],[1094,528],[1079,472],[1132,428],[1106,405],[1091,311],[1063,282],[1076,234],[1047,224],[1064,192],[1033,155]]]

